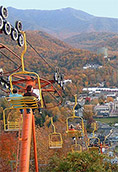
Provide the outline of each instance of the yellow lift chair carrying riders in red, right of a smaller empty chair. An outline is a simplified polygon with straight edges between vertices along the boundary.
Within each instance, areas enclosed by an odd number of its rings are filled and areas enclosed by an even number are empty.
[[[83,118],[75,115],[75,107],[77,105],[77,95],[75,95],[75,105],[73,107],[73,116],[66,119],[67,130],[66,133],[73,137],[77,135],[78,137],[84,136],[84,121]]]

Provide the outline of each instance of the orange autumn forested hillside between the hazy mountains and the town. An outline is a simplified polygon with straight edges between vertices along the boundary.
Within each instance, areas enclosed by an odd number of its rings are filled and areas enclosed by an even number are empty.
[[[27,70],[35,71],[39,73],[41,77],[51,79],[55,67],[60,67],[61,72],[65,74],[65,79],[71,79],[73,81],[73,84],[69,86],[73,94],[77,91],[81,92],[84,86],[98,85],[103,81],[106,86],[115,87],[118,85],[117,53],[115,56],[113,53],[113,58],[108,60],[105,59],[102,54],[97,55],[88,50],[74,49],[68,44],[41,31],[27,31],[26,36],[28,43],[30,43],[30,45],[28,44],[27,53],[24,56],[25,68]],[[115,35],[112,37],[109,34],[103,37],[103,40],[107,40],[111,52],[116,50],[117,39],[114,39],[114,37]],[[93,36],[93,42],[95,42],[95,40],[99,40],[99,36]],[[110,40],[112,40],[112,42]],[[86,39],[84,41],[86,41]],[[11,41],[8,36],[1,34],[1,42],[8,45],[8,47],[17,54],[21,54],[21,48],[16,46],[16,43]],[[31,46],[33,46],[40,56]],[[10,55],[8,54],[8,56]],[[5,71],[16,68],[15,64],[6,59],[3,55],[1,55],[0,58],[0,67]],[[14,58],[12,57],[12,59]],[[46,62],[44,60],[46,60]],[[20,64],[20,61],[16,60],[16,62]],[[100,65],[101,68],[88,68],[85,70],[83,66],[86,64],[97,64]],[[54,70],[52,70],[52,68]]]

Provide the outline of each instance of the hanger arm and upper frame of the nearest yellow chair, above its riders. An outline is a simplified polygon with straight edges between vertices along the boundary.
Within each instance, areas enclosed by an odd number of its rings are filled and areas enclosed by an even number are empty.
[[[12,73],[9,76],[9,81],[10,81],[10,88],[11,91],[13,90],[13,87],[17,87],[19,89],[20,93],[24,93],[26,90],[26,87],[28,85],[32,85],[34,89],[37,90],[37,94],[40,99],[41,103],[41,108],[43,108],[43,99],[42,99],[42,92],[41,92],[41,83],[40,83],[40,77],[37,73],[35,72],[29,72],[24,69],[24,54],[27,49],[27,44],[26,44],[26,35],[24,32],[22,32],[24,36],[24,50],[21,54],[21,64],[22,64],[22,71]]]

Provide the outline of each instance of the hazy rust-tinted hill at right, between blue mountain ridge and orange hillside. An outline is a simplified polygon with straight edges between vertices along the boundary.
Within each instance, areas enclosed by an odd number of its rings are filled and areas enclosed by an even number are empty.
[[[118,34],[108,32],[81,33],[67,39],[64,42],[74,48],[97,51],[99,47],[107,47],[111,51],[118,52]]]

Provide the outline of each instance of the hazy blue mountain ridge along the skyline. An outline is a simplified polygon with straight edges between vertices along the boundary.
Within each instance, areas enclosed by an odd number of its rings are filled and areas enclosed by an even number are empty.
[[[21,20],[24,30],[45,31],[60,39],[83,32],[118,33],[118,19],[96,17],[72,8],[59,10],[20,10],[8,8],[8,20]]]

